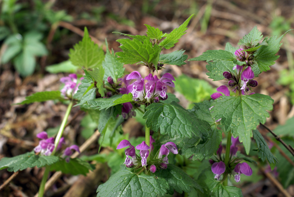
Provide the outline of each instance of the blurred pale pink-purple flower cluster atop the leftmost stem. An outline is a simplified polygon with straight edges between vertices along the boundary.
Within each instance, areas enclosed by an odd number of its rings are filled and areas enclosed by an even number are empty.
[[[81,77],[80,80],[84,79]],[[76,74],[69,74],[69,76],[64,76],[60,79],[64,83],[64,87],[61,89],[61,94],[65,97],[72,98],[72,96],[77,92],[78,86],[81,83],[77,84]]]

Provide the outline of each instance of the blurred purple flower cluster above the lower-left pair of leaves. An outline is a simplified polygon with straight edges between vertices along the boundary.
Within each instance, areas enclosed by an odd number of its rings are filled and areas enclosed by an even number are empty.
[[[40,152],[41,155],[45,156],[51,155],[52,151],[55,148],[54,138],[48,138],[48,134],[45,131],[38,133],[37,138],[40,138],[42,140],[39,142],[39,145],[34,148],[34,151]],[[61,137],[56,150],[60,150],[63,144],[65,144],[65,140],[63,137]],[[80,153],[79,148],[76,145],[72,145],[71,147],[66,148],[64,150],[63,156],[64,158],[66,158],[67,162],[70,161],[70,156],[73,154],[72,150],[78,151]]]

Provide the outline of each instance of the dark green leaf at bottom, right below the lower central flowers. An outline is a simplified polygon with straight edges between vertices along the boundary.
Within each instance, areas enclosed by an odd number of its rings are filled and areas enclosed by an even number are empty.
[[[158,169],[155,172],[157,177],[166,179],[169,183],[169,194],[173,194],[173,190],[182,194],[183,192],[190,193],[192,188],[203,191],[199,184],[191,178],[186,172],[179,167],[169,164],[167,169]]]

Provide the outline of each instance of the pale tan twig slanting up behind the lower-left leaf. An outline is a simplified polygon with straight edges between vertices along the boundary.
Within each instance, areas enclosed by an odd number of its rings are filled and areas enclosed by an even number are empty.
[[[93,142],[95,142],[99,136],[100,132],[96,130],[95,133],[84,144],[82,144],[82,146],[80,146],[80,152],[82,153],[83,151],[85,151],[85,149],[88,148]],[[74,152],[71,158],[75,158],[79,154],[80,153],[78,152]],[[46,182],[44,192],[46,192],[55,183],[55,181],[61,177],[61,175],[62,172],[55,172]],[[38,193],[34,197],[38,197]]]

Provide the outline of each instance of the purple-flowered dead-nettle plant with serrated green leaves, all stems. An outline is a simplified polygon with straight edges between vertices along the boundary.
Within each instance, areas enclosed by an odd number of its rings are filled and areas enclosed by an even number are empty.
[[[146,25],[147,35],[120,33],[128,38],[117,40],[122,51],[116,53],[108,49],[106,41],[104,54],[85,28],[83,40],[69,55],[73,65],[83,70],[62,77],[64,86],[60,91],[35,93],[19,103],[60,100],[67,104],[59,131],[50,137],[45,131],[37,134],[40,141],[34,151],[1,159],[0,169],[17,172],[45,167],[39,197],[43,197],[50,171],[85,175],[93,170],[92,164],[71,158],[73,151],[83,150],[77,145],[69,146],[66,136],[62,137],[71,109],[79,107],[97,123],[100,147],[105,137],[109,138],[124,161],[112,164],[120,169],[99,185],[97,197],[163,197],[174,191],[198,197],[242,197],[241,189],[231,185],[254,173],[251,167],[255,163],[250,163],[253,160],[239,148],[244,147],[249,154],[253,137],[261,160],[268,160],[271,169],[278,162],[270,148],[262,146],[267,143],[257,130],[269,117],[267,111],[272,110],[273,99],[255,93],[254,88],[259,85],[258,75],[270,70],[279,57],[275,54],[285,34],[262,40],[262,33],[254,27],[237,48],[227,43],[224,50],[207,50],[189,59],[206,61],[209,78],[223,80],[224,85],[217,88],[211,100],[194,103],[192,109],[186,110],[178,104],[179,99],[168,93],[176,79],[165,66],[186,64],[185,50],[168,49],[185,34],[192,17],[170,33],[150,25]],[[124,64],[145,66],[148,73],[127,74]],[[121,124],[139,113],[145,122],[145,140],[138,138],[135,142],[124,136],[115,142]],[[226,141],[223,145],[222,136]],[[186,172],[195,160],[202,161],[203,166],[192,177]],[[21,163],[24,165],[18,165]]]

